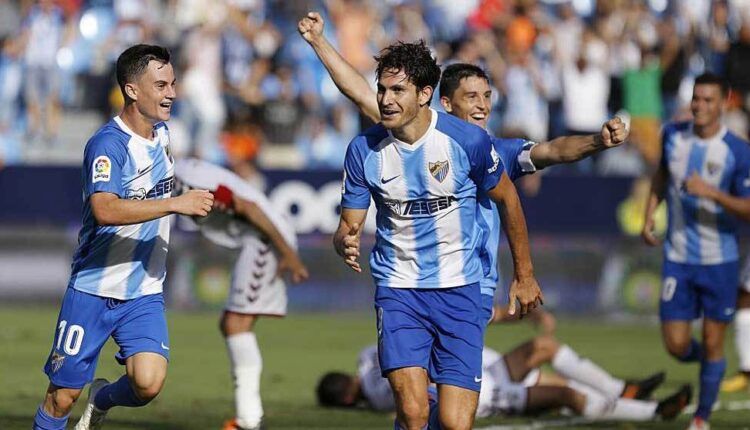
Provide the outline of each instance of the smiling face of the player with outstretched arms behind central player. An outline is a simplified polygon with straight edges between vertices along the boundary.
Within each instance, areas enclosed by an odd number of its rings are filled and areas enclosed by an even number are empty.
[[[461,82],[453,95],[441,97],[445,111],[464,121],[487,128],[492,108],[492,89],[486,79],[469,76]]]

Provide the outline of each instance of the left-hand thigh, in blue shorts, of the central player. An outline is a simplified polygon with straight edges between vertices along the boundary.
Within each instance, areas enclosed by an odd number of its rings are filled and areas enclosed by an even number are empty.
[[[412,289],[375,291],[378,359],[384,375],[405,367],[429,369],[435,334],[418,296]]]

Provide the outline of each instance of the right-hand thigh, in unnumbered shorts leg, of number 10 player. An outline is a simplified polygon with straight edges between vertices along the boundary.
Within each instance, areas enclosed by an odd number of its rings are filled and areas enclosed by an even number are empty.
[[[112,338],[120,347],[115,358],[125,364],[129,357],[150,352],[169,361],[169,332],[162,294],[118,302]]]

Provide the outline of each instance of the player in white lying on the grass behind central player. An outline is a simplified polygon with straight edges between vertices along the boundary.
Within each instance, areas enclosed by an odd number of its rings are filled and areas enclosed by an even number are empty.
[[[535,358],[532,351],[540,349],[548,350],[550,358]],[[555,372],[542,372],[539,366],[544,363],[551,364]],[[643,382],[628,383],[548,335],[505,355],[485,347],[477,417],[536,416],[566,407],[593,420],[671,420],[690,403],[692,390],[685,385],[660,402],[646,400],[663,377],[660,373]],[[626,396],[629,391],[632,395]],[[329,372],[318,382],[316,394],[322,406],[360,406],[376,411],[394,408],[393,393],[381,375],[375,345],[360,353],[356,375]]]

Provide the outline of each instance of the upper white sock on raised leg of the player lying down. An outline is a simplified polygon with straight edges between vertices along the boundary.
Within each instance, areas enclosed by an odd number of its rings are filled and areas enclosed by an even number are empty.
[[[625,381],[617,379],[591,360],[581,358],[568,345],[561,345],[552,359],[552,367],[567,379],[586,384],[599,392],[619,397]]]

